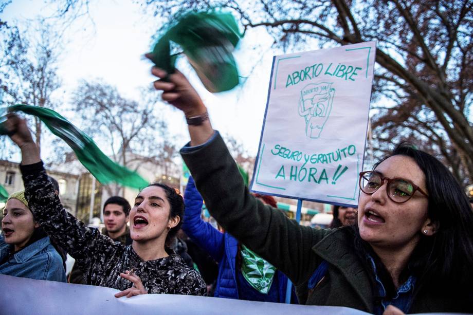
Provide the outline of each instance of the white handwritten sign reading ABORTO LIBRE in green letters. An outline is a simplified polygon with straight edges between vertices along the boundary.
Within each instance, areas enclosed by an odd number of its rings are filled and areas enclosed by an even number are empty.
[[[252,191],[358,205],[375,44],[274,57]]]

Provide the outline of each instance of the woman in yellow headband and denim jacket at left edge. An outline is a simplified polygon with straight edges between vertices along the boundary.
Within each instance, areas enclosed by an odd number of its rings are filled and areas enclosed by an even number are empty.
[[[34,221],[24,191],[13,193],[3,209],[0,274],[66,282],[62,257]]]

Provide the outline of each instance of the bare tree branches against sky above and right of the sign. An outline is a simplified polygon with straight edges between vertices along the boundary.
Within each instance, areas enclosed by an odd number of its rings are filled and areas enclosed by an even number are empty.
[[[176,14],[215,7],[240,17],[244,30],[265,27],[286,50],[376,41],[375,141],[415,140],[473,181],[473,2],[469,0],[260,0],[161,2],[145,10]],[[404,117],[403,119],[394,119]],[[409,118],[409,119],[407,119]],[[395,128],[393,126],[396,126]],[[396,130],[396,132],[394,132]],[[396,137],[392,137],[393,133]],[[453,156],[452,159],[447,157]],[[452,164],[453,163],[453,164]]]

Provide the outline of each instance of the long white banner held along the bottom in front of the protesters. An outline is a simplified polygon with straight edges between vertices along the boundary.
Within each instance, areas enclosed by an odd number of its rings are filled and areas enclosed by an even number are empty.
[[[0,275],[0,313],[50,314],[368,314],[335,306],[305,306],[174,294],[115,298],[116,289]]]

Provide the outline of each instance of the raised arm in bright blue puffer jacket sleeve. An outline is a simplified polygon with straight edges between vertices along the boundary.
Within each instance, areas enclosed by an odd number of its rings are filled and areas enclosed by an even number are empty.
[[[199,247],[203,248],[212,258],[219,262],[224,254],[224,234],[205,222],[202,217],[203,200],[195,188],[194,179],[189,181],[184,192],[184,223],[182,229]]]

